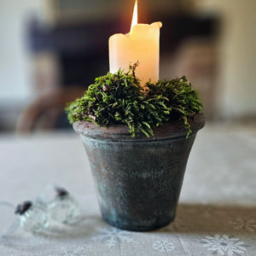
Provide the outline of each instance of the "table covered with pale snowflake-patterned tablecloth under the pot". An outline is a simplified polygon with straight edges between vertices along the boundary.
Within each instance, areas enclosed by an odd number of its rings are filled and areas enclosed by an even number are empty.
[[[79,136],[3,134],[0,201],[16,205],[57,183],[82,210],[79,224],[52,222],[42,234],[17,230],[2,238],[0,255],[256,255],[255,156],[255,127],[207,125],[189,157],[175,222],[156,231],[131,232],[102,220]],[[4,215],[3,207],[0,212],[3,230],[8,222],[3,219],[11,214]]]

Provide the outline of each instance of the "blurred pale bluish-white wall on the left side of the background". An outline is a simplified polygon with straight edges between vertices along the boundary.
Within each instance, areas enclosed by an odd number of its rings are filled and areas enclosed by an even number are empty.
[[[0,0],[0,108],[31,94],[25,25],[41,9],[41,0]]]

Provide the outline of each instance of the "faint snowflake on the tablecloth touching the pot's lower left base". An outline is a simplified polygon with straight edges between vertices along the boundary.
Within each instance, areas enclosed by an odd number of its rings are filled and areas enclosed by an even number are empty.
[[[134,241],[131,238],[131,232],[113,227],[98,230],[98,234],[93,237],[93,240],[102,241],[108,248],[115,247],[121,241],[127,243]]]

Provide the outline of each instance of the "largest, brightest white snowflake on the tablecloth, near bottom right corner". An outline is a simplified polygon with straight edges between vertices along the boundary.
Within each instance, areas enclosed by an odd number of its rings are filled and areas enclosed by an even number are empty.
[[[244,253],[247,249],[243,247],[244,241],[240,241],[238,238],[230,238],[229,236],[205,236],[205,239],[202,239],[204,242],[203,247],[207,247],[208,251],[213,253],[218,253],[219,255],[232,256],[234,253],[240,255]]]

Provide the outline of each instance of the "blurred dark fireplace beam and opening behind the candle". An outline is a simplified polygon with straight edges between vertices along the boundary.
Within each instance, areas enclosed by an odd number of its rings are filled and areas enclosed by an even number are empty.
[[[150,20],[161,20],[164,25],[160,33],[160,61],[167,55],[176,55],[191,38],[205,38],[210,43],[216,38],[216,20],[212,17],[152,16]],[[34,55],[55,55],[55,65],[59,65],[56,70],[61,71],[61,86],[85,86],[108,72],[108,38],[114,33],[127,31],[129,27],[123,26],[121,19],[49,27],[32,20],[29,26],[30,49]]]

